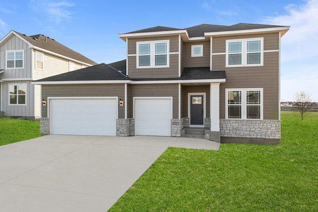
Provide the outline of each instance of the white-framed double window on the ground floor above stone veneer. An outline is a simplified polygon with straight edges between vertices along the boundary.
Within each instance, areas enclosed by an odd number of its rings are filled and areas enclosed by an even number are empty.
[[[226,119],[263,119],[263,88],[226,89]]]

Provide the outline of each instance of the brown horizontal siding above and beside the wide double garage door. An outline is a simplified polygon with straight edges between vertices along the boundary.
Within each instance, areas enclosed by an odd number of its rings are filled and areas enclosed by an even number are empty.
[[[48,97],[108,97],[125,99],[124,84],[42,85],[42,99]],[[42,106],[42,118],[47,118],[47,106]],[[119,106],[118,118],[125,118],[125,107]]]

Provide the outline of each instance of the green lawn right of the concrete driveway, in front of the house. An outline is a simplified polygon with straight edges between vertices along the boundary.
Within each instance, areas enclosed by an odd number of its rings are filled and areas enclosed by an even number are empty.
[[[168,148],[110,212],[317,212],[318,113],[281,117],[279,145]]]

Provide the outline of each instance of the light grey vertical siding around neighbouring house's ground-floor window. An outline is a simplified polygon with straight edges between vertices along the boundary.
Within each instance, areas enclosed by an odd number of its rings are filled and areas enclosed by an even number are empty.
[[[9,105],[9,84],[26,84],[26,105]],[[4,116],[34,117],[34,86],[31,81],[2,82],[2,109]]]

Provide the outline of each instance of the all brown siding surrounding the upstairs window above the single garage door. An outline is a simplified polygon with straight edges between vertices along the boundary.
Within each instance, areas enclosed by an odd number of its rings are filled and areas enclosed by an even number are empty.
[[[131,78],[162,78],[179,76],[179,55],[169,54],[169,67],[137,69],[137,42],[169,40],[169,53],[179,52],[179,36],[165,36],[152,38],[129,38],[127,44],[128,76]],[[134,56],[129,56],[134,55]]]

